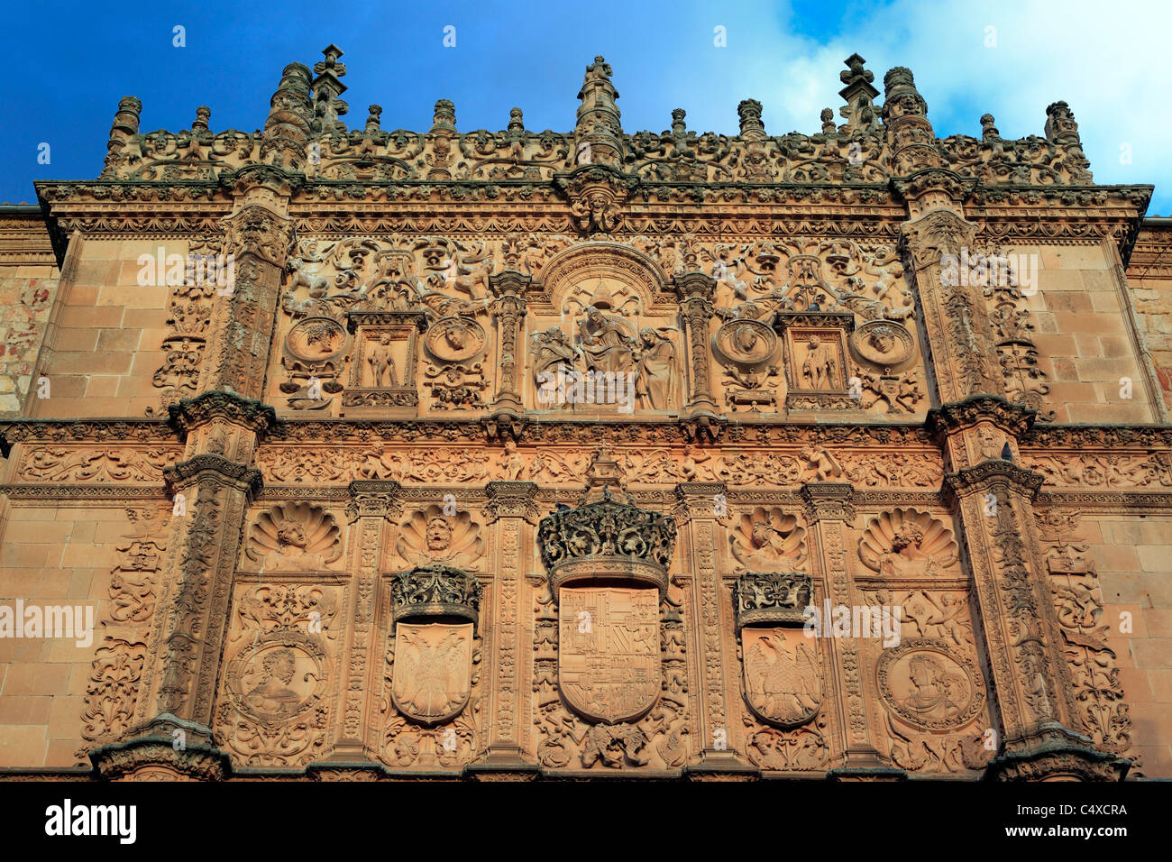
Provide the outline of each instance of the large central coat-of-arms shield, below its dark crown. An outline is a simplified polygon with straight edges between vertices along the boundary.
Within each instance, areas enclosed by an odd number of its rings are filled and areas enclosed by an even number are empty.
[[[563,586],[558,684],[595,721],[631,721],[660,692],[659,591]]]

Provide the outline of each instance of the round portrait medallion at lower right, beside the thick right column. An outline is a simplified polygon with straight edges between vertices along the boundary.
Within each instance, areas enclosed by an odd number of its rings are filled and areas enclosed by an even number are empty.
[[[963,727],[984,705],[981,672],[967,656],[934,640],[905,640],[879,658],[879,697],[915,727]]]

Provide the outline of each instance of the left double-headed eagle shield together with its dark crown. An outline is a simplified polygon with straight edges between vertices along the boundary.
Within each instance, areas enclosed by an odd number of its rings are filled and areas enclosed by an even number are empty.
[[[436,725],[455,718],[468,704],[482,595],[476,577],[438,563],[401,572],[391,581],[390,697],[403,715]]]

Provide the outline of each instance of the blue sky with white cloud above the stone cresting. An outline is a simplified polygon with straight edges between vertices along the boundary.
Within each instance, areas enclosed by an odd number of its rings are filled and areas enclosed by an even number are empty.
[[[197,106],[216,131],[260,128],[281,68],[308,66],[338,43],[349,74],[349,125],[381,104],[382,128],[425,129],[436,99],[456,103],[462,130],[525,125],[567,131],[582,70],[614,68],[627,131],[661,131],[673,108],[688,128],[735,133],[736,106],[764,104],[771,134],[819,129],[837,110],[838,73],[852,52],[883,74],[907,66],[936,134],[980,135],[981,114],[1003,137],[1042,134],[1045,107],[1075,113],[1099,183],[1151,183],[1147,215],[1172,215],[1172,116],[1160,57],[1172,2],[368,2],[116,5],[26,2],[0,34],[13,60],[0,137],[0,201],[33,202],[34,179],[96,177],[118,99],[143,101],[142,130],[189,128]],[[185,47],[172,28],[185,28]],[[456,47],[443,28],[456,27]],[[724,27],[727,47],[714,46]],[[992,28],[992,29],[990,29]],[[990,43],[992,41],[992,43]],[[41,143],[49,164],[38,163]],[[1129,161],[1130,159],[1130,161]]]

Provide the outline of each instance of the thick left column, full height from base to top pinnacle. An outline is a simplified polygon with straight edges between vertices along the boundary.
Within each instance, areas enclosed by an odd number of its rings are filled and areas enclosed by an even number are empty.
[[[212,756],[212,701],[241,527],[261,486],[251,463],[275,422],[273,408],[259,399],[293,243],[288,196],[301,179],[282,168],[305,163],[308,95],[309,70],[287,66],[261,142],[261,158],[281,167],[250,165],[225,178],[234,209],[223,223],[223,251],[232,256],[236,278],[214,297],[198,394],[169,406],[185,437],[184,459],[164,471],[176,500],[164,591],[144,663],[148,688],[136,707],[136,738],[124,746],[162,752],[180,772]],[[159,747],[177,729],[183,746]]]

